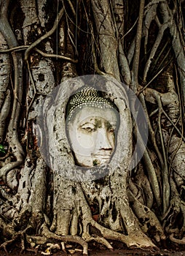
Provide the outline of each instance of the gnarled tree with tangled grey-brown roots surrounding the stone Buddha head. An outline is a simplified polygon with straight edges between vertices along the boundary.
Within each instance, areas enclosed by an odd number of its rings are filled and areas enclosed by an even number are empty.
[[[75,242],[87,255],[92,240],[184,244],[182,10],[179,1],[0,1],[1,247]],[[84,85],[119,109],[107,165],[77,166],[68,142],[66,105]]]

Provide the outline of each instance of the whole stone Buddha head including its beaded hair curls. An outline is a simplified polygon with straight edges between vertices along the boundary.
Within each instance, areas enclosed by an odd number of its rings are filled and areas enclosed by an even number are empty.
[[[84,89],[70,103],[66,132],[76,165],[92,167],[109,163],[119,128],[117,109],[95,89]]]

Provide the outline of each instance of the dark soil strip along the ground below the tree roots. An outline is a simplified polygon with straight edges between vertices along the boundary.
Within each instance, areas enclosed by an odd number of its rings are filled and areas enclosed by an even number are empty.
[[[145,249],[127,249],[124,248],[124,246],[120,246],[119,243],[115,244],[114,243],[114,249],[113,251],[110,251],[109,249],[106,249],[104,246],[100,246],[98,244],[90,244],[89,246],[89,256],[149,256],[149,255],[155,255],[155,256],[185,256],[185,246],[173,246],[173,248],[170,249],[157,249],[156,251],[151,251],[149,249],[145,250]],[[8,251],[9,254],[8,256],[43,256],[43,255],[49,255],[46,254],[46,247],[45,246],[41,246],[39,248],[38,252],[22,252],[22,254],[20,254],[20,244],[14,244],[14,246],[11,246]],[[70,255],[70,256],[82,256],[82,248],[79,246],[68,246],[68,248],[66,249],[66,252],[63,251],[54,251],[51,252],[52,256],[66,256],[66,255]],[[6,252],[4,252],[3,249],[0,250],[0,256],[7,256]]]

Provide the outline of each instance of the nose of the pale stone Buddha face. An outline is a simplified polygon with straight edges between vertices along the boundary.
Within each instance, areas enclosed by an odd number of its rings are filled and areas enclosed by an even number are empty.
[[[98,135],[97,135],[97,148],[98,149],[106,149],[106,150],[111,150],[112,146],[109,141],[106,129],[100,128],[98,129]]]

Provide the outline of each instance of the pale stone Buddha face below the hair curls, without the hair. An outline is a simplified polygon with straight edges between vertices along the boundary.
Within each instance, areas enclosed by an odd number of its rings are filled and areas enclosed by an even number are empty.
[[[68,121],[68,140],[76,164],[92,167],[110,162],[118,129],[118,113],[113,108],[84,106]]]

